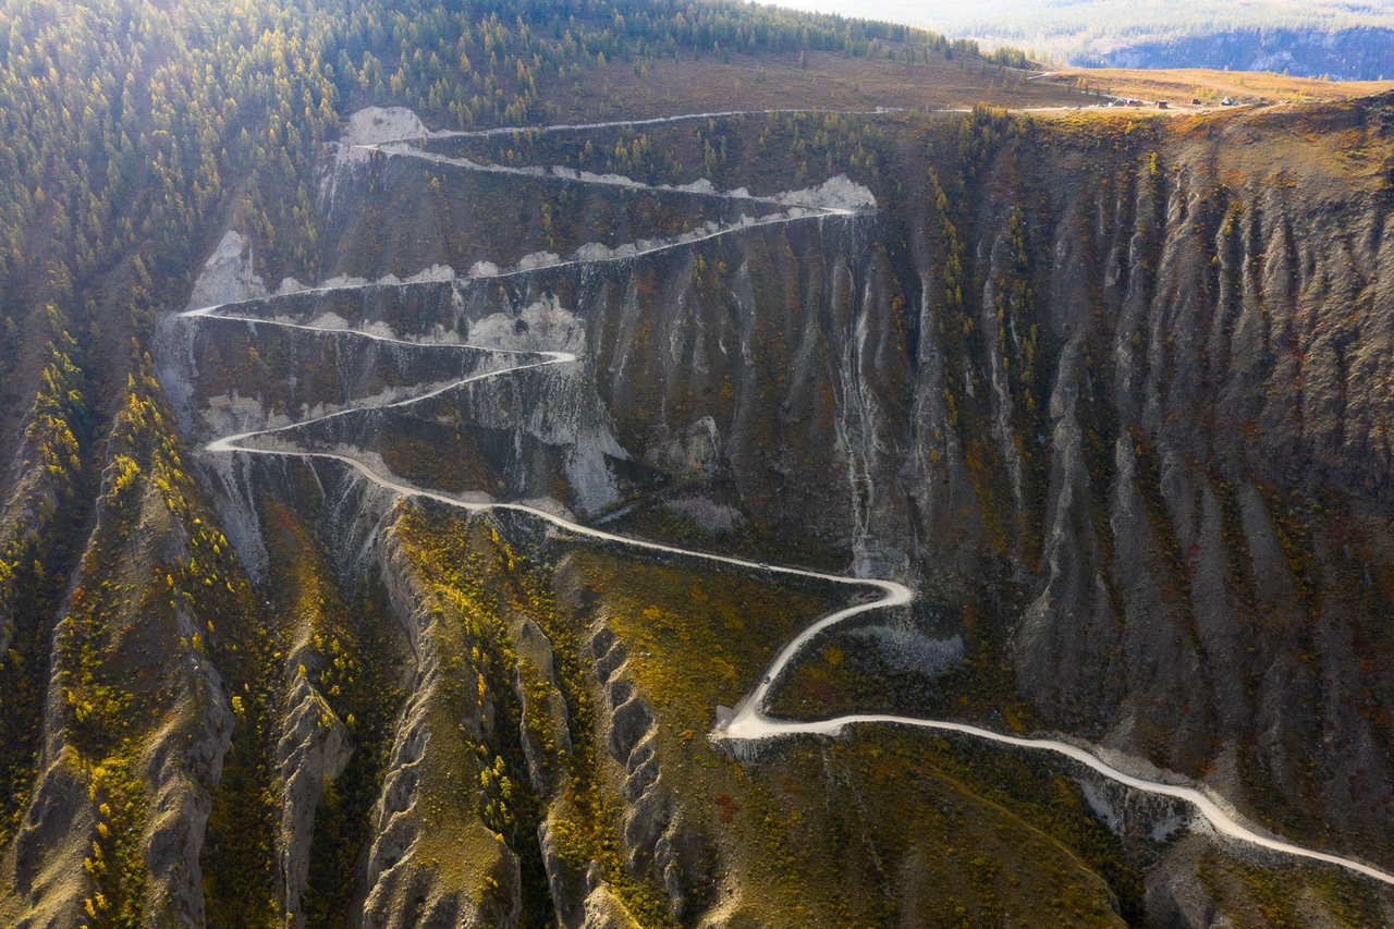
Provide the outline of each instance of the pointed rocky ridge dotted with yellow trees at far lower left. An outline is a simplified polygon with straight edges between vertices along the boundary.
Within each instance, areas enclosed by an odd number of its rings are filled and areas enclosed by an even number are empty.
[[[171,430],[142,370],[54,632],[39,776],[4,859],[0,912],[15,925],[205,916],[199,852],[233,728],[213,656],[256,624]]]

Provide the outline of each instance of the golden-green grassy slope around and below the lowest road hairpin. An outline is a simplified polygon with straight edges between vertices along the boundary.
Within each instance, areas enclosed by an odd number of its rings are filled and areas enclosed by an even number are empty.
[[[733,894],[719,897],[733,923],[1121,925],[1082,847],[1061,841],[1072,834],[1066,819],[1086,822],[1083,801],[1057,796],[1015,759],[986,755],[1033,795],[1054,798],[1058,822],[1011,812],[1008,794],[972,783],[999,785],[999,769],[984,777],[952,745],[919,732],[789,741],[758,764],[704,738],[717,704],[735,703],[774,650],[841,591],[595,548],[569,555],[559,584],[588,590],[626,649],[622,674],[655,717],[661,783],[736,876]],[[612,769],[609,790],[623,776]],[[868,886],[892,887],[895,900]]]

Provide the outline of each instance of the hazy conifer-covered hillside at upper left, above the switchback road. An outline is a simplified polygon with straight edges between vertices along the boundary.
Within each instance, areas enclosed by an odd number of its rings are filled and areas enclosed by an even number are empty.
[[[638,73],[683,54],[892,47],[974,56],[905,28],[736,6],[7,4],[0,455],[33,463],[13,476],[26,497],[6,513],[7,565],[25,569],[21,548],[54,512],[86,519],[71,512],[84,495],[64,488],[96,480],[121,385],[230,211],[265,243],[268,278],[315,279],[314,165],[347,113],[396,102],[438,127],[535,124],[566,114],[542,89],[588,82],[609,61]],[[50,409],[50,368],[75,364],[91,389],[64,389]]]

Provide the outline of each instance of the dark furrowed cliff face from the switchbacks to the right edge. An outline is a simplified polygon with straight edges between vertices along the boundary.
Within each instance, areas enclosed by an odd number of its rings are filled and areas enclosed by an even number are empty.
[[[990,607],[1043,721],[1209,771],[1241,803],[1281,796],[1260,819],[1381,845],[1384,119],[894,121],[885,146],[912,153],[871,180],[875,213],[461,279],[413,317],[583,346],[566,379],[301,438],[475,423],[466,453],[495,492],[592,513],[637,492],[613,524],[920,577]],[[427,165],[456,188],[499,180]],[[325,311],[308,300],[302,318]]]

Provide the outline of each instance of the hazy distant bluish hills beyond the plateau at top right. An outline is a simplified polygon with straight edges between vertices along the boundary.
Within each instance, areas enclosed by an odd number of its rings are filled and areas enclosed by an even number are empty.
[[[795,0],[1033,49],[1089,67],[1230,68],[1372,81],[1394,75],[1394,6],[1341,0],[1210,4],[1197,0]]]

